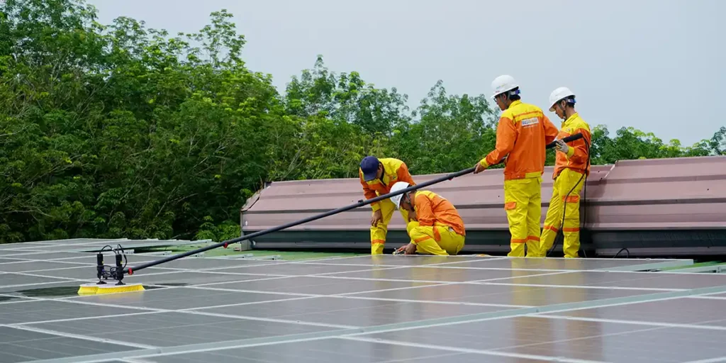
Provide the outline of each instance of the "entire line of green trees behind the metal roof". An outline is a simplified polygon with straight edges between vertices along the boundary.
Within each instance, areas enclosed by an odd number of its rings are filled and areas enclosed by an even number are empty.
[[[0,4],[0,241],[237,237],[264,181],[355,177],[369,154],[457,171],[494,147],[493,105],[441,81],[409,110],[319,58],[280,94],[231,17],[170,36],[76,0]],[[592,163],[721,154],[725,134],[682,147],[597,126]]]

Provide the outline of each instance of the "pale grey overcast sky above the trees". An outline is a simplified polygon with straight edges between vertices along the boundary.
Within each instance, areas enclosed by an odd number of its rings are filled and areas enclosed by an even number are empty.
[[[652,131],[693,144],[726,126],[726,1],[719,0],[90,0],[101,23],[128,16],[171,34],[227,9],[244,59],[281,92],[317,54],[395,86],[416,107],[441,79],[449,93],[486,94],[510,74],[546,110],[568,86],[591,127]],[[719,25],[722,24],[722,25]]]

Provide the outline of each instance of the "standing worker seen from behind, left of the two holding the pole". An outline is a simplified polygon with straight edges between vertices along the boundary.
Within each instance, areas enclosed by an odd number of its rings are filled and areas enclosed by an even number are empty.
[[[505,160],[504,208],[507,211],[511,251],[507,256],[539,257],[539,222],[542,218],[542,174],[546,144],[558,130],[537,106],[523,103],[519,85],[511,76],[492,81],[492,99],[502,110],[497,144],[476,164],[474,174]]]

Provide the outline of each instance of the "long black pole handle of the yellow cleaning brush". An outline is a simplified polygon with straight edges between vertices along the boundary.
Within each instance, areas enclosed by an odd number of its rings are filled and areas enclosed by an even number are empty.
[[[564,142],[571,142],[571,141],[574,141],[574,140],[580,139],[580,138],[582,138],[582,134],[574,134],[572,136],[568,136],[568,137],[563,138],[563,141]],[[550,144],[547,144],[547,149],[550,149],[552,147],[555,147],[555,142],[551,142]],[[176,260],[178,258],[196,255],[197,253],[201,253],[201,252],[204,252],[204,251],[207,251],[207,250],[213,250],[214,248],[220,248],[220,247],[227,248],[227,245],[230,245],[232,243],[240,242],[240,241],[243,241],[243,240],[250,240],[252,238],[259,237],[259,236],[264,235],[264,234],[268,234],[268,233],[272,233],[272,232],[277,232],[277,231],[280,231],[282,229],[287,229],[287,228],[290,228],[290,227],[295,227],[295,226],[297,226],[299,224],[307,223],[309,221],[315,221],[317,219],[322,219],[322,218],[325,218],[327,216],[333,216],[334,214],[342,213],[342,212],[345,212],[345,211],[350,211],[351,209],[355,209],[355,208],[360,208],[360,207],[362,207],[364,205],[369,205],[371,203],[376,203],[376,202],[379,202],[380,200],[385,200],[385,199],[388,199],[388,198],[393,197],[393,196],[396,196],[396,195],[401,195],[401,194],[410,192],[412,190],[416,190],[416,189],[420,189],[420,188],[423,188],[423,187],[428,187],[429,185],[441,183],[441,181],[452,180],[452,179],[457,178],[459,176],[463,176],[463,175],[466,175],[466,174],[473,173],[474,172],[474,169],[475,168],[468,168],[468,169],[465,169],[465,170],[462,170],[462,171],[457,171],[456,173],[447,174],[445,176],[440,176],[439,178],[431,179],[431,180],[425,181],[425,182],[423,182],[421,184],[412,185],[410,187],[407,187],[406,189],[401,189],[398,192],[391,192],[391,193],[388,193],[388,194],[379,195],[378,197],[374,197],[374,198],[371,198],[371,199],[368,199],[368,200],[360,200],[358,203],[351,204],[351,205],[347,205],[345,207],[338,208],[338,209],[333,209],[332,211],[327,211],[325,213],[320,213],[320,214],[317,214],[315,216],[309,216],[308,218],[305,218],[305,219],[300,219],[298,221],[293,221],[293,222],[290,222],[290,223],[287,223],[287,224],[282,224],[282,225],[277,226],[277,227],[272,227],[272,228],[269,228],[269,229],[264,229],[262,231],[258,231],[258,232],[254,232],[254,233],[247,234],[247,235],[244,235],[244,236],[240,236],[240,237],[237,237],[237,238],[233,238],[232,240],[226,240],[226,241],[223,241],[223,242],[218,242],[218,243],[215,243],[213,245],[205,246],[203,248],[197,248],[196,250],[189,250],[189,251],[184,252],[184,253],[178,253],[176,255],[168,256],[168,257],[165,257],[165,258],[160,258],[160,259],[158,259],[156,261],[149,261],[149,262],[144,263],[144,264],[139,264],[138,266],[132,266],[132,267],[129,267],[127,269],[124,269],[123,270],[123,273],[125,273],[125,274],[134,274],[134,272],[139,271],[141,269],[146,269],[147,267],[156,266],[158,264],[163,264],[163,263],[168,262],[168,261],[174,261],[174,260]]]

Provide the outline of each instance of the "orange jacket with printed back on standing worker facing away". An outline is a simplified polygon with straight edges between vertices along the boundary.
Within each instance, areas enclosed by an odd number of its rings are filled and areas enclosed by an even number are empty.
[[[542,109],[516,100],[499,117],[497,146],[481,164],[488,168],[506,156],[505,180],[542,176],[544,146],[554,141],[557,134],[557,127]]]

